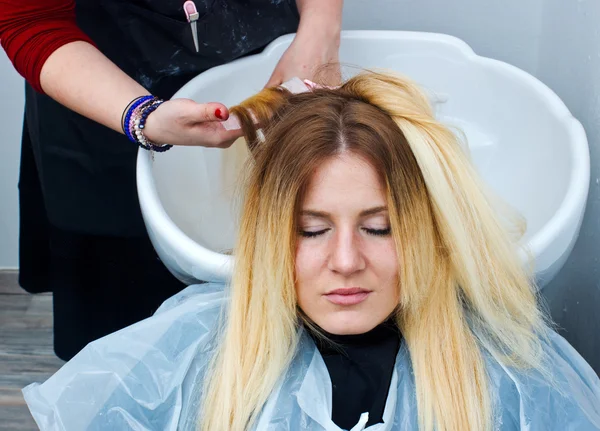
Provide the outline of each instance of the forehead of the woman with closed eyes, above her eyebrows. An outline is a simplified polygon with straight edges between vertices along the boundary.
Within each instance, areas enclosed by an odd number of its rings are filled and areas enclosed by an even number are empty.
[[[302,200],[303,208],[335,210],[385,204],[380,175],[363,157],[342,153],[314,171]]]

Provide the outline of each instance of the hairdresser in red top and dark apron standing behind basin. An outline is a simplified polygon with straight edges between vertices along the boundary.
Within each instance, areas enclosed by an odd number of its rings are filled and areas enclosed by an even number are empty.
[[[19,282],[53,292],[60,358],[184,287],[144,228],[138,147],[223,148],[239,132],[219,124],[229,116],[220,103],[168,99],[286,33],[297,32],[265,84],[310,78],[337,61],[341,9],[342,0],[0,0],[0,42],[27,81]]]

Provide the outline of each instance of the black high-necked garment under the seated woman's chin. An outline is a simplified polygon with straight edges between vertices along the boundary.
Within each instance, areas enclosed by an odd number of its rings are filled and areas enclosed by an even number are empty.
[[[365,334],[313,337],[331,378],[331,419],[342,429],[369,412],[367,426],[383,422],[383,411],[400,348],[400,332],[389,319]]]

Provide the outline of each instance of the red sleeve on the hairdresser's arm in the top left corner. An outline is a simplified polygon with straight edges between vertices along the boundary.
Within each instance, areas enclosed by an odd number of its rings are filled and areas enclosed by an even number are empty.
[[[75,0],[0,0],[0,44],[15,69],[40,93],[40,72],[56,49],[83,40]]]

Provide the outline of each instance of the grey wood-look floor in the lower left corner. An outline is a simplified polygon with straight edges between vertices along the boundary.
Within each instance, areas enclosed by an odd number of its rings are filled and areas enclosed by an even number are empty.
[[[17,273],[0,271],[0,430],[37,430],[21,389],[64,362],[52,350],[52,295],[31,295]]]

